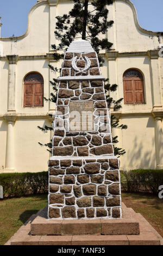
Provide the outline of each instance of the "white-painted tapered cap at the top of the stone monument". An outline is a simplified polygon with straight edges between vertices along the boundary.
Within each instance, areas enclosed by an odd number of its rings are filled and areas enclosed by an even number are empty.
[[[89,52],[95,52],[95,50],[93,50],[89,41],[79,39],[79,40],[71,42],[70,46],[68,47],[67,52],[89,53]]]

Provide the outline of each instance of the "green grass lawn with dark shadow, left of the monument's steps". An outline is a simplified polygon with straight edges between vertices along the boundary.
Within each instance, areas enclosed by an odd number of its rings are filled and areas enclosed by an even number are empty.
[[[0,245],[4,245],[31,215],[47,203],[47,194],[0,200]]]

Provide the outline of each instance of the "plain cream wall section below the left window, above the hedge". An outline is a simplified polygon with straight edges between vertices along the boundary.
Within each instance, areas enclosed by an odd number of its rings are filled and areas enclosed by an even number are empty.
[[[47,120],[17,120],[14,126],[14,160],[16,172],[47,171],[49,152],[38,142],[45,144],[50,140],[50,132],[43,133],[37,126],[49,125]]]

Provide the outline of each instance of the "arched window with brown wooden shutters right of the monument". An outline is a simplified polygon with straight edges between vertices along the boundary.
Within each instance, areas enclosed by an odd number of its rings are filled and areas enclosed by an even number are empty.
[[[125,104],[145,103],[143,76],[135,69],[127,70],[123,75]]]

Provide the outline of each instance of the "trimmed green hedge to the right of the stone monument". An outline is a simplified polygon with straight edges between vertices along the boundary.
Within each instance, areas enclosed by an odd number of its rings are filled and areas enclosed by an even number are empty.
[[[163,170],[130,170],[121,172],[121,186],[124,192],[159,193],[163,185]]]

